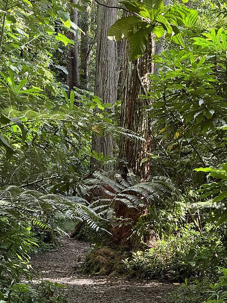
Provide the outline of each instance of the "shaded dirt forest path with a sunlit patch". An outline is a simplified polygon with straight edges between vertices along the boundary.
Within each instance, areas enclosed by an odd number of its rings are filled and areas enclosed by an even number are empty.
[[[124,277],[88,277],[80,273],[89,244],[63,237],[56,251],[33,257],[38,281],[65,284],[69,303],[167,303],[173,285]]]

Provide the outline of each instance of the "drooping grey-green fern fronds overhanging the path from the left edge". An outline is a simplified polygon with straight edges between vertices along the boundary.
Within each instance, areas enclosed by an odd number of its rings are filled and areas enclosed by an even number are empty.
[[[7,186],[0,190],[0,218],[30,221],[43,229],[58,229],[58,220],[86,221],[98,229],[101,216],[84,198],[69,199],[63,195],[45,194]]]

